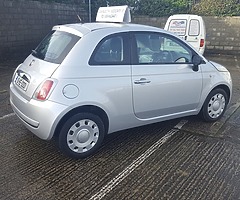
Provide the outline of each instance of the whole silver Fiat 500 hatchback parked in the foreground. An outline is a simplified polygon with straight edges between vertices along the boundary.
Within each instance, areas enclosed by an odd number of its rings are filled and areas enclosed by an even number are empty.
[[[10,102],[36,136],[68,156],[93,154],[106,134],[200,114],[231,99],[228,70],[178,36],[131,23],[53,27],[14,72]]]

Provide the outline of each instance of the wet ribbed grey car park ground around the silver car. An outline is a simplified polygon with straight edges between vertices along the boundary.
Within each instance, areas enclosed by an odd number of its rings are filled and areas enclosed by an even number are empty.
[[[188,117],[121,131],[83,160],[65,157],[12,114],[8,87],[18,62],[0,63],[0,199],[239,200],[240,57],[207,57],[233,78],[220,121]],[[180,121],[187,123],[177,129]]]

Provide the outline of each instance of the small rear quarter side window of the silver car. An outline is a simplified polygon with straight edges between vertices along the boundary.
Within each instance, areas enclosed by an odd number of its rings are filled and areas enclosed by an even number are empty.
[[[93,65],[124,64],[124,38],[112,35],[104,38],[96,47],[90,59]]]

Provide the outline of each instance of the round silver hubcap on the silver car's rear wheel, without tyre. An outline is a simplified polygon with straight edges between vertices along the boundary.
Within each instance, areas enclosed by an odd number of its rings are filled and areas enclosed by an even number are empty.
[[[76,152],[83,153],[95,146],[99,137],[97,124],[89,119],[77,121],[67,133],[68,147]]]

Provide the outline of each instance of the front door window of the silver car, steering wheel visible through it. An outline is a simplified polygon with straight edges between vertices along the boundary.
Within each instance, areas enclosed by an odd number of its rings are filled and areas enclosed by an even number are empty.
[[[138,64],[191,63],[192,51],[167,34],[135,33]]]

